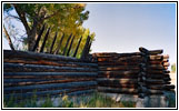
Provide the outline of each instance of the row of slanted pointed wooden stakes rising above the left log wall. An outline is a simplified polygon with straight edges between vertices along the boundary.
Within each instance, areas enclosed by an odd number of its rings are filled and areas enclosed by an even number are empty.
[[[73,51],[71,51],[73,44],[74,44],[74,41],[77,39],[77,37],[74,37],[72,33],[68,37],[66,43],[64,43],[64,48],[63,50],[61,49],[62,48],[62,43],[64,41],[64,33],[62,34],[62,37],[60,38],[59,41],[57,41],[57,37],[58,37],[58,32],[56,32],[53,39],[52,39],[52,42],[51,42],[51,46],[49,47],[49,51],[44,51],[44,46],[50,37],[50,30],[51,28],[48,28],[47,29],[47,32],[44,33],[44,30],[46,30],[46,24],[43,24],[43,27],[41,28],[41,30],[39,31],[39,34],[38,34],[38,38],[34,42],[34,46],[32,48],[32,50],[30,51],[33,51],[33,52],[44,52],[44,53],[51,53],[51,54],[61,54],[61,56],[67,56],[69,57],[77,57],[78,52],[79,52],[79,48],[80,48],[80,43],[82,41],[82,36],[81,38],[77,41],[77,47],[74,48]],[[44,36],[43,36],[44,34]],[[42,41],[42,43],[40,44],[40,41]],[[80,59],[86,59],[88,57],[88,53],[90,51],[90,47],[91,47],[91,43],[92,43],[92,39],[90,36],[87,37],[87,40],[86,40],[86,43],[84,43],[84,47],[81,52],[81,57]],[[54,49],[54,44],[57,44],[58,47]],[[62,52],[60,53],[60,49],[62,50]]]

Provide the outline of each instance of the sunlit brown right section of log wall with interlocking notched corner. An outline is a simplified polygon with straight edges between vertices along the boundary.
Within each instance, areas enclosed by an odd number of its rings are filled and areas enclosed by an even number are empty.
[[[99,67],[98,91],[143,98],[175,89],[167,70],[169,56],[162,56],[162,50],[139,50],[133,53],[93,53]]]

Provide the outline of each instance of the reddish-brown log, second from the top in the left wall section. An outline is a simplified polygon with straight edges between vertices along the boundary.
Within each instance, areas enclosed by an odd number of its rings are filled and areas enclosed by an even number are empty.
[[[82,67],[82,68],[97,68],[97,63],[84,62],[62,62],[62,61],[49,61],[49,60],[31,60],[31,59],[3,59],[3,62],[21,63],[21,64],[44,64],[44,65],[58,65],[58,67]]]

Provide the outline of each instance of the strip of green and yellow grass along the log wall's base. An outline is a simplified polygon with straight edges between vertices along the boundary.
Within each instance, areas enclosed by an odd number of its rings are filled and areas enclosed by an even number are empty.
[[[56,104],[56,105],[54,105]],[[82,95],[69,98],[68,95],[62,97],[58,101],[47,97],[41,99],[41,102],[37,102],[37,97],[29,100],[23,100],[16,103],[13,98],[9,101],[3,102],[4,108],[135,108],[133,102],[115,102],[109,97],[103,97],[99,93],[92,95]]]

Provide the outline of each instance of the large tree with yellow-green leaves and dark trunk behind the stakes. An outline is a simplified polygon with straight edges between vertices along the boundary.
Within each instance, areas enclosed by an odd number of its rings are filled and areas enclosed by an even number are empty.
[[[51,27],[50,38],[53,38],[54,32],[58,31],[60,33],[58,33],[57,41],[62,33],[66,34],[64,41],[71,33],[76,36],[74,41],[77,41],[86,32],[82,23],[89,18],[89,11],[86,11],[84,8],[83,3],[4,3],[3,12],[7,13],[7,17],[20,20],[23,24],[27,33],[23,44],[31,51],[43,23]],[[11,14],[12,10],[16,10],[18,16]],[[90,33],[88,32],[88,34]],[[51,41],[52,39],[48,39],[46,50],[49,50]]]

